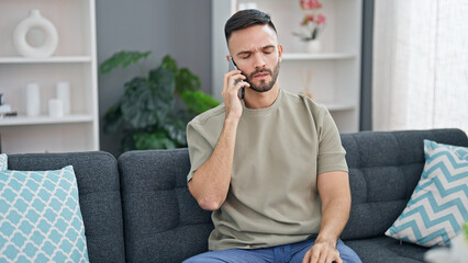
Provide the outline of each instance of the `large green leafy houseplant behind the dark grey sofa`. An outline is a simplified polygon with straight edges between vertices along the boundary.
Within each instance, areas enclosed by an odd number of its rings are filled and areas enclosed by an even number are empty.
[[[120,52],[103,61],[110,73],[146,59],[152,52]],[[196,115],[220,103],[200,91],[200,79],[166,55],[161,64],[124,83],[120,101],[103,118],[105,134],[122,130],[123,151],[186,147],[186,126]]]

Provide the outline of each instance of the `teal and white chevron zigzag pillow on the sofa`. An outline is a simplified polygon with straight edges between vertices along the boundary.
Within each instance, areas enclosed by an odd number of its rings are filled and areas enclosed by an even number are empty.
[[[468,148],[424,140],[423,174],[386,235],[424,247],[447,245],[468,221]]]

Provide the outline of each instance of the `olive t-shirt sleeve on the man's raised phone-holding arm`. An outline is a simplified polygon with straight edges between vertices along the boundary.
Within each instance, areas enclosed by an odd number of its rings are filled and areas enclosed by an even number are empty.
[[[202,135],[200,127],[196,123],[187,125],[187,144],[190,157],[190,172],[187,175],[189,182],[194,172],[210,158],[213,147]]]

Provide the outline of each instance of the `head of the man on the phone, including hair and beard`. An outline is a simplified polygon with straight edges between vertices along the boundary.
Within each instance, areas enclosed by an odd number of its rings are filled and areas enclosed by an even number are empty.
[[[278,78],[282,54],[270,16],[258,10],[238,11],[227,20],[224,34],[230,54],[250,89],[269,91]]]

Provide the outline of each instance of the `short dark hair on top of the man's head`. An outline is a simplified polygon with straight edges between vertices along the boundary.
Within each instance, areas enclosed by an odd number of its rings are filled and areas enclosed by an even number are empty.
[[[277,33],[271,18],[256,9],[241,10],[233,14],[224,25],[224,35],[226,37],[226,43],[231,37],[231,34],[234,31],[244,30],[254,25],[266,25],[268,24],[275,33]]]

